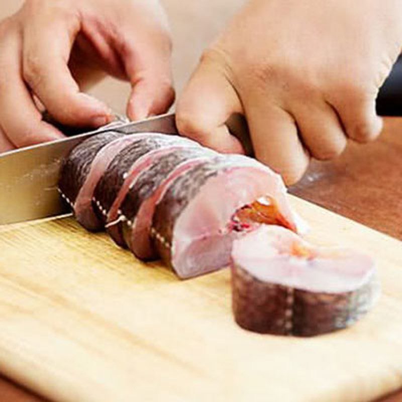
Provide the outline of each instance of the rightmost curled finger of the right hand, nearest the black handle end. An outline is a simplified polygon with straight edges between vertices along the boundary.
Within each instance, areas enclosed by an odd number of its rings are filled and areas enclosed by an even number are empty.
[[[358,90],[338,92],[343,96],[331,100],[331,103],[338,111],[347,136],[360,143],[377,138],[383,122],[375,111],[375,96]]]

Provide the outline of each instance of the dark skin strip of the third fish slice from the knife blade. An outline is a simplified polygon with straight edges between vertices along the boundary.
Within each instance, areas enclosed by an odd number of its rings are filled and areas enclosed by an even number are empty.
[[[160,156],[147,170],[139,175],[121,205],[122,214],[126,217],[126,221],[122,223],[126,244],[130,244],[131,237],[131,227],[128,226],[127,222],[134,222],[144,200],[157,190],[166,176],[185,161],[202,156],[208,157],[212,154],[211,150],[198,146],[176,148],[172,152]],[[157,258],[156,255],[155,258]]]

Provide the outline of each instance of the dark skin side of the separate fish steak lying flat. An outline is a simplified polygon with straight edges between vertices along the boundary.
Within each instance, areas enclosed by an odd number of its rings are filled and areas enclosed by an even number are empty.
[[[310,337],[351,326],[379,295],[375,275],[343,293],[312,292],[263,282],[232,263],[232,308],[236,323],[249,331]]]

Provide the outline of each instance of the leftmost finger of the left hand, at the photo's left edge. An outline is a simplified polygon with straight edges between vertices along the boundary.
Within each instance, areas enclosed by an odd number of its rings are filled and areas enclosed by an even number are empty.
[[[58,130],[42,122],[42,114],[22,80],[19,37],[10,35],[0,43],[0,122],[5,132],[0,147],[4,150],[10,144],[24,147],[62,138]]]

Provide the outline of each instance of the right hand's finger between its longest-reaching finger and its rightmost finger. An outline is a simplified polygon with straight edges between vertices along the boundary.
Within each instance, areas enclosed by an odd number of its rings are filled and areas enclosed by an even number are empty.
[[[292,115],[304,145],[314,158],[329,160],[344,151],[347,139],[343,127],[334,109],[324,100],[313,105],[298,102]]]

